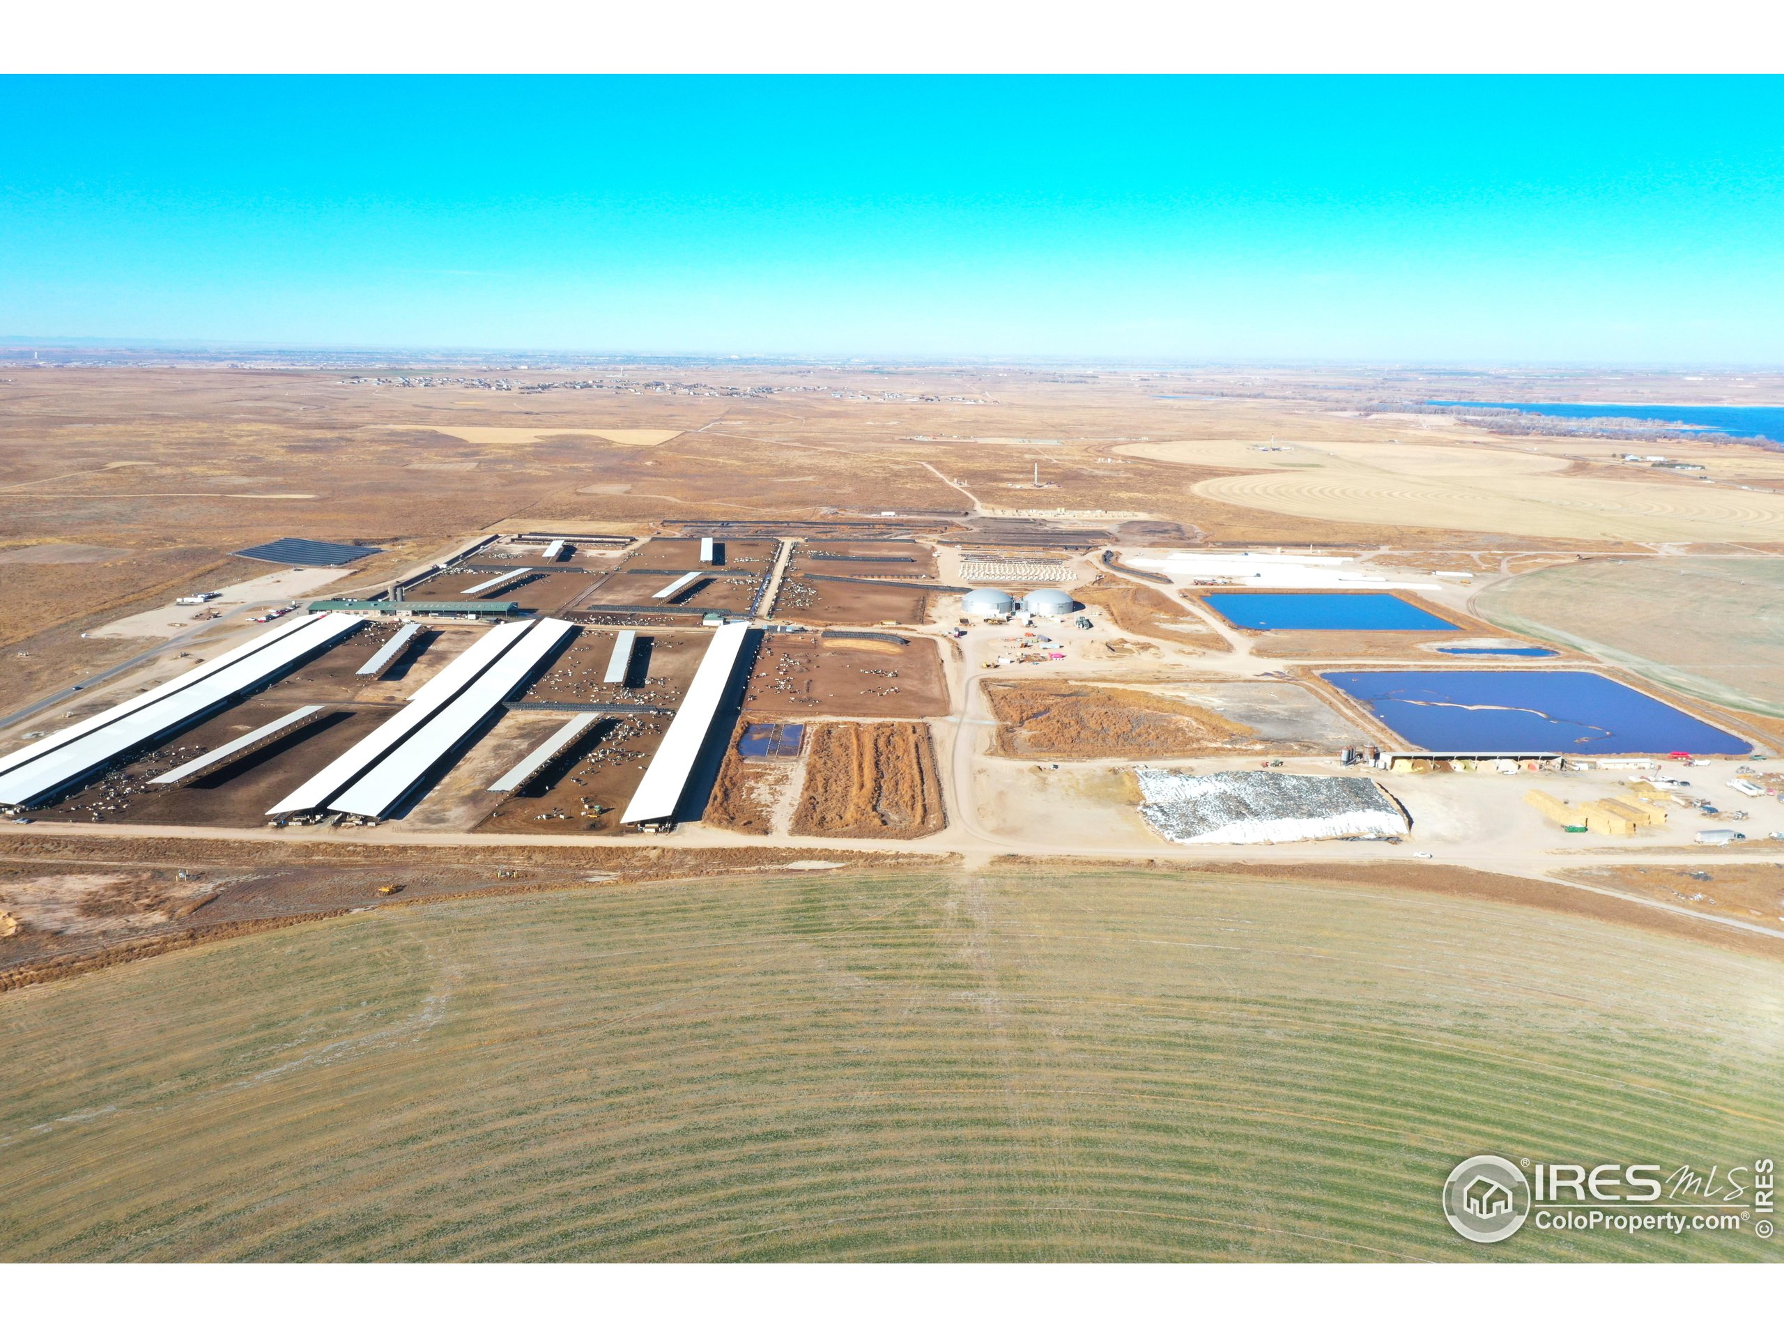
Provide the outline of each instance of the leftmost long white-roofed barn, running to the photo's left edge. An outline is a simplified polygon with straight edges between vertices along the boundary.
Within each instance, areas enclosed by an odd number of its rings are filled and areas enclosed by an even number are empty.
[[[112,719],[98,728],[91,728],[95,721],[84,721],[82,726],[37,740],[34,749],[48,747],[29,760],[21,760],[21,755],[32,749],[0,758],[0,805],[29,805],[70,789],[120,753],[141,747],[241,692],[282,678],[300,660],[334,644],[364,621],[351,614],[298,619],[296,626],[282,630],[284,635],[277,639],[257,637],[234,657],[219,657],[228,662],[209,674],[182,674],[189,681],[171,692],[168,689],[182,680],[164,683],[157,692],[114,706],[112,712],[102,712]],[[203,667],[211,669],[214,664]]]

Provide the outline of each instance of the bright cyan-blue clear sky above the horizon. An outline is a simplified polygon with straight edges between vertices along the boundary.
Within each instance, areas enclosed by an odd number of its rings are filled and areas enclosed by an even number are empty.
[[[0,335],[1784,359],[1784,80],[4,78]]]

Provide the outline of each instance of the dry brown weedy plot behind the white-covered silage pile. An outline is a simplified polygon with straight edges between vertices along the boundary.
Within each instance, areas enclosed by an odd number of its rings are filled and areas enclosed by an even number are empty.
[[[1188,701],[1063,681],[987,683],[995,749],[1020,758],[1256,753],[1258,733]]]

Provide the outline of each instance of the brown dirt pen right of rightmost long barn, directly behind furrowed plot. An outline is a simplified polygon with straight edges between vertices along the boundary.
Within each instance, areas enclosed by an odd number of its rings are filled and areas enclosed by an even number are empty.
[[[947,680],[940,649],[926,637],[908,646],[874,640],[824,640],[805,632],[771,632],[762,639],[744,708],[772,719],[801,715],[947,714]]]

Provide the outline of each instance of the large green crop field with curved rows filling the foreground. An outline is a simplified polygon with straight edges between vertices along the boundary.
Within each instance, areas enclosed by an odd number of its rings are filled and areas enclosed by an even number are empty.
[[[1784,1152],[1780,1017],[1764,960],[1286,880],[400,908],[0,995],[0,1258],[1777,1258],[1438,1193]]]

